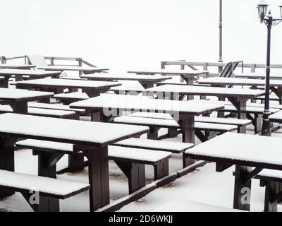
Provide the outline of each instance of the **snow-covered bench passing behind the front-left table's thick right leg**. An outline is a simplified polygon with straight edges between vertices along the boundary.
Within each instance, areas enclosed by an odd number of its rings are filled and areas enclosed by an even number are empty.
[[[73,144],[27,139],[18,141],[16,147],[32,149],[34,155],[39,155],[39,157],[42,152],[60,153],[62,155],[68,154],[69,156],[77,155],[76,160],[80,162],[78,165],[81,165],[81,163],[82,167],[85,165],[83,157],[84,153],[78,152],[76,145]],[[171,157],[171,153],[168,153],[167,151],[125,148],[109,145],[108,152],[109,160],[114,160],[125,176],[128,177],[130,193],[145,186],[145,165],[154,166],[155,180],[168,175],[168,159]],[[71,167],[70,163],[71,162],[69,162],[69,167]],[[75,164],[75,160],[73,160],[73,164]],[[48,173],[51,175],[56,174],[56,166],[53,167],[53,172],[51,171],[52,170],[49,169]]]

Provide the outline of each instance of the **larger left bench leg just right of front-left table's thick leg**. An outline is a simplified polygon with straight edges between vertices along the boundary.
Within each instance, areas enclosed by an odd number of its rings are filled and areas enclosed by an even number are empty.
[[[137,191],[146,185],[145,165],[133,162],[115,161],[116,165],[128,178],[129,194]]]

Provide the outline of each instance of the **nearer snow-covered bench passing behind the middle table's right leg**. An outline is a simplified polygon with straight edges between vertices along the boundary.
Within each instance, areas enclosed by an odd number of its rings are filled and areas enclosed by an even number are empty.
[[[149,126],[149,139],[158,139],[158,131],[160,128],[168,129],[180,129],[180,126],[173,119],[153,119],[148,117],[131,117],[131,116],[122,116],[116,117],[114,119],[115,123],[120,124],[133,124],[138,126]],[[225,125],[225,124],[212,124],[212,123],[203,123],[195,121],[195,135],[200,139],[200,141],[207,141],[209,138],[215,136],[215,133],[226,133],[228,131],[235,131],[238,129],[238,126],[234,125]],[[202,133],[205,132],[205,135]],[[164,137],[161,137],[164,138]]]

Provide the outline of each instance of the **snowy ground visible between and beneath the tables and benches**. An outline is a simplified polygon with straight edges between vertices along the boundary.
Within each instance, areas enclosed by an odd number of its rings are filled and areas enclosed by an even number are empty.
[[[89,120],[84,117],[83,120]],[[162,129],[160,133],[166,133]],[[247,133],[253,134],[253,126],[247,126]],[[272,134],[282,138],[282,130]],[[142,136],[145,138],[145,136]],[[168,141],[181,142],[181,135],[176,138],[168,138]],[[199,143],[199,141],[196,141]],[[16,151],[16,172],[26,174],[37,174],[37,157],[32,156],[31,150]],[[170,160],[170,172],[176,172],[182,168],[182,155],[173,155]],[[67,166],[67,157],[63,157],[57,169]],[[110,161],[110,192],[111,202],[118,198],[128,195],[128,182],[117,165]],[[152,191],[150,194],[141,198],[139,201],[130,203],[121,208],[120,211],[154,211],[161,210],[173,211],[177,206],[167,206],[170,201],[176,201],[176,205],[181,205],[184,201],[192,201],[192,209],[205,210],[203,204],[211,205],[210,210],[220,210],[220,208],[232,208],[233,206],[233,169],[227,169],[225,172],[215,172],[215,164],[209,163],[195,172],[185,177],[176,179],[176,181],[166,186]],[[153,181],[153,167],[146,167],[147,184]],[[77,182],[88,182],[87,167],[81,172],[66,173],[58,175],[59,179],[72,180]],[[89,211],[89,194],[84,192],[73,198],[61,201],[61,211]],[[194,203],[195,202],[195,203]],[[184,202],[185,203],[185,202]],[[198,203],[198,204],[197,204]],[[184,205],[184,204],[183,204]],[[252,181],[252,199],[251,210],[262,211],[264,205],[264,188],[259,187],[259,181]],[[212,207],[216,206],[216,207]],[[0,211],[32,211],[21,194],[14,194],[8,198],[0,200]],[[279,209],[282,211],[282,208]]]

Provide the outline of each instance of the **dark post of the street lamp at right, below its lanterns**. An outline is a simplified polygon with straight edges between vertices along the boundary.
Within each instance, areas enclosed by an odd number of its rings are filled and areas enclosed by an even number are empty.
[[[271,136],[269,124],[269,83],[270,83],[270,48],[271,48],[271,26],[272,17],[267,20],[267,57],[266,57],[266,77],[265,77],[265,102],[262,121],[262,136]]]

